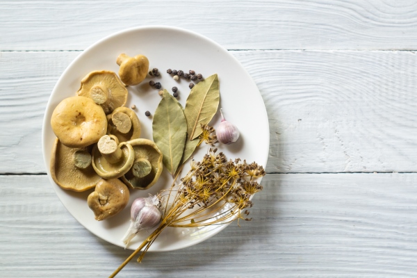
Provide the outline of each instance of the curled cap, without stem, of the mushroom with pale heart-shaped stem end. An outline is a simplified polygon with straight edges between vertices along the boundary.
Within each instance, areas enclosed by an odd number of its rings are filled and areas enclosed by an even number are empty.
[[[100,153],[97,145],[92,149],[92,167],[100,177],[104,179],[115,179],[122,177],[132,167],[135,159],[135,152],[133,147],[126,142],[119,144],[122,149],[122,159],[117,163],[109,163],[106,158]]]

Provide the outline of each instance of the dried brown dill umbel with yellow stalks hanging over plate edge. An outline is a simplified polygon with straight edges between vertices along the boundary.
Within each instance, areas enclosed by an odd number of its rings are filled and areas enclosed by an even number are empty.
[[[218,149],[208,149],[202,161],[191,162],[189,172],[178,184],[174,181],[170,189],[160,193],[164,196],[161,223],[110,277],[115,277],[141,251],[138,262],[142,261],[166,227],[204,227],[235,220],[240,225],[240,220],[252,220],[247,217],[248,209],[253,205],[252,195],[262,190],[257,179],[264,175],[263,167],[255,162],[227,160]]]

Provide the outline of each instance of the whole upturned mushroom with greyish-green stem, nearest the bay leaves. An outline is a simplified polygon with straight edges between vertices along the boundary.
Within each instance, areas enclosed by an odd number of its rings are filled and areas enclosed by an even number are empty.
[[[134,139],[126,143],[133,147],[135,161],[129,172],[122,177],[122,181],[134,189],[150,188],[161,176],[161,151],[155,142],[148,139]]]

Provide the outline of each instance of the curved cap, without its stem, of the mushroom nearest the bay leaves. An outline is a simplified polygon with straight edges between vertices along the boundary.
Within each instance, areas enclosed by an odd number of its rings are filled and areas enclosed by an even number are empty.
[[[122,181],[133,189],[147,189],[153,186],[161,176],[163,169],[162,152],[152,140],[140,138],[126,142],[132,145],[135,152],[135,160],[145,158],[152,165],[152,170],[145,177],[135,177],[133,167],[122,177]]]

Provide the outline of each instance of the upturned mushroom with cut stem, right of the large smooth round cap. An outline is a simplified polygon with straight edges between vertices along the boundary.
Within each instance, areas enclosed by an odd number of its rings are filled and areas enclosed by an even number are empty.
[[[119,142],[126,142],[140,137],[140,121],[135,111],[127,107],[116,108],[107,115],[107,135],[114,135]]]

